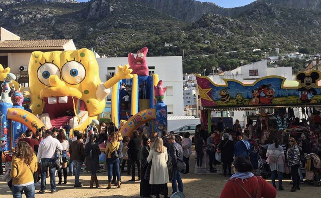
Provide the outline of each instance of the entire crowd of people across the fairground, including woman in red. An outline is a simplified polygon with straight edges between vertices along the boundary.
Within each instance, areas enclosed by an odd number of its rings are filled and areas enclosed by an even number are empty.
[[[259,121],[253,125],[251,120],[244,131],[238,120],[232,128],[226,128],[222,119],[218,123],[212,122],[210,133],[205,126],[197,125],[193,138],[197,167],[204,167],[204,155],[208,156],[210,172],[216,172],[216,165],[222,163],[223,176],[230,179],[221,197],[239,197],[237,194],[241,191],[245,193],[244,197],[247,194],[274,198],[276,189],[284,190],[282,179],[287,174],[292,179],[290,191],[295,192],[303,182],[301,167],[304,167],[304,157],[312,152],[320,155],[320,123],[321,117],[317,113],[309,122],[305,119],[299,122],[295,118],[289,123],[289,128],[310,126],[309,131],[298,133],[273,130]],[[141,197],[168,197],[168,183],[171,183],[171,193],[184,191],[181,174],[189,174],[193,143],[188,132],[183,137],[173,131],[169,134],[166,131],[153,133],[146,123],[129,138],[123,137],[112,122],[109,126],[101,123],[89,133],[87,128],[73,131],[73,138],[70,128],[67,132],[68,126],[52,130],[41,127],[35,134],[27,130],[25,137],[18,142],[12,160],[12,180],[8,186],[13,197],[22,197],[22,191],[27,198],[34,197],[35,186],[40,186],[39,194],[46,193],[47,178],[50,178],[51,193],[56,193],[56,174],[57,185],[67,183],[67,162],[69,176],[74,175],[74,187],[82,187],[81,168],[85,165],[91,172],[89,187],[93,188],[95,184],[99,188],[97,171],[101,169],[99,158],[102,152],[105,153],[103,168],[108,172],[107,189],[121,188],[121,173],[127,172],[131,175],[130,181],[140,181]],[[104,151],[99,145],[105,145]],[[256,157],[254,161],[253,156]],[[262,159],[262,164],[257,159]],[[265,168],[271,171],[272,185],[255,176],[260,174],[256,170]]]

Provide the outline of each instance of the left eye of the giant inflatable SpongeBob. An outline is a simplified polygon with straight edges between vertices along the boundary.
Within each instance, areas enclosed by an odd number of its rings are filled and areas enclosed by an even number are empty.
[[[38,68],[37,75],[41,83],[47,86],[50,86],[50,83],[49,83],[50,75],[57,75],[58,78],[60,78],[60,70],[53,63],[45,63]]]

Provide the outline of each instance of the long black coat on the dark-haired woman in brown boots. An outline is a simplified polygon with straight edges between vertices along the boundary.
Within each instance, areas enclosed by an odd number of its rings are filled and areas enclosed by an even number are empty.
[[[91,157],[90,157],[91,150]],[[99,170],[99,155],[101,151],[98,144],[94,142],[89,142],[85,146],[86,154],[86,170],[87,171],[96,171]]]

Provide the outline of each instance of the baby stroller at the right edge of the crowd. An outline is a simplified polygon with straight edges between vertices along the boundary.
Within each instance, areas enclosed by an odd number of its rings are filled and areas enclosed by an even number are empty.
[[[321,186],[321,161],[317,154],[310,153],[306,156],[305,177],[307,183],[313,186]]]

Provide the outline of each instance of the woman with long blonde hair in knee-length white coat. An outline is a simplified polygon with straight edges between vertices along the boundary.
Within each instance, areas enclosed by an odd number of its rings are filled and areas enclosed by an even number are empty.
[[[148,163],[152,161],[149,183],[151,184],[151,194],[156,195],[157,198],[160,197],[160,194],[164,195],[164,198],[168,197],[167,159],[167,149],[163,146],[163,140],[156,138],[147,161]]]

